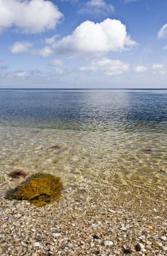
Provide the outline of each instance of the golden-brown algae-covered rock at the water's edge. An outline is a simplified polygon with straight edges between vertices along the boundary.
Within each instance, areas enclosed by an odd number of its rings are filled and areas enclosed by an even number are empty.
[[[27,200],[30,204],[43,206],[61,197],[63,183],[52,174],[33,174],[6,195],[6,199]]]

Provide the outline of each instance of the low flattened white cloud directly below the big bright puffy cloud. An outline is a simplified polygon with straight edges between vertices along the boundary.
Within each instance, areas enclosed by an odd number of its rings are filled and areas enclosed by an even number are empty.
[[[92,60],[91,64],[86,67],[81,67],[80,71],[94,71],[101,72],[105,75],[119,75],[129,70],[129,64],[120,61],[119,59],[112,60],[102,58],[99,60]]]

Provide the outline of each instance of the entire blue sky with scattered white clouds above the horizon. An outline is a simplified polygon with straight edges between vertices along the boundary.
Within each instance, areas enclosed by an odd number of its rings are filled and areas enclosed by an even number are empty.
[[[0,0],[0,88],[167,88],[167,1]]]

